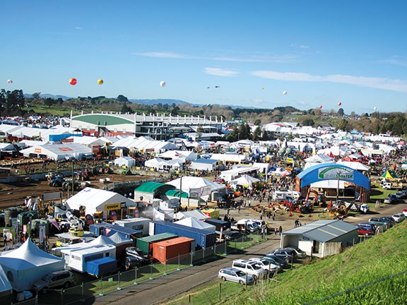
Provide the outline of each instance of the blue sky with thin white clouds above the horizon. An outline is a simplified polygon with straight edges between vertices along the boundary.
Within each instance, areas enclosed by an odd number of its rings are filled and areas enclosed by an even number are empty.
[[[4,1],[0,88],[406,112],[406,11],[405,0]]]

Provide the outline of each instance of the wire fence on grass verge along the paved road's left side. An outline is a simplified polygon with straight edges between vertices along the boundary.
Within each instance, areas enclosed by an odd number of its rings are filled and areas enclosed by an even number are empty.
[[[18,305],[49,304],[67,305],[81,304],[83,301],[110,294],[116,290],[138,285],[159,277],[163,277],[178,270],[190,268],[199,263],[205,263],[216,258],[222,258],[228,253],[234,253],[241,249],[265,241],[264,234],[243,235],[233,241],[225,241],[206,249],[179,254],[172,258],[166,258],[161,263],[152,263],[131,270],[103,276],[91,282],[83,282],[81,285],[66,289],[47,289],[41,292],[34,292],[34,298],[21,301]]]

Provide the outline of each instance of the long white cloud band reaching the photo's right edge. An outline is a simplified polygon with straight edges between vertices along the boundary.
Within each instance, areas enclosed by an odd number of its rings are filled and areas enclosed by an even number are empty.
[[[407,92],[407,82],[398,79],[372,78],[365,76],[347,76],[333,74],[328,76],[313,76],[308,73],[276,72],[276,71],[253,71],[250,74],[261,78],[274,80],[305,81],[305,82],[329,82],[359,85],[361,87],[377,88],[391,91]]]

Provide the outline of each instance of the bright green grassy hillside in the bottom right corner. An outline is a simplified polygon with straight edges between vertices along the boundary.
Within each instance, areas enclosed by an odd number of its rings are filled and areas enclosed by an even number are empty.
[[[208,302],[200,304],[406,304],[406,236],[407,221],[341,254],[281,273],[276,281],[247,289],[225,282],[220,301],[208,298],[217,294],[218,280],[191,293],[194,300],[206,295]]]

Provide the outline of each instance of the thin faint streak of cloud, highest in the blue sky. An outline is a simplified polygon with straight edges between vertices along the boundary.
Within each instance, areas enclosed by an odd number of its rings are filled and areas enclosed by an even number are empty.
[[[258,55],[249,54],[247,56],[194,56],[187,54],[179,54],[174,52],[138,52],[132,53],[138,56],[167,58],[167,59],[198,59],[198,60],[213,60],[213,61],[239,61],[239,62],[290,62],[298,58],[297,55]]]

